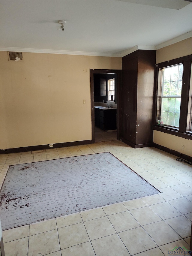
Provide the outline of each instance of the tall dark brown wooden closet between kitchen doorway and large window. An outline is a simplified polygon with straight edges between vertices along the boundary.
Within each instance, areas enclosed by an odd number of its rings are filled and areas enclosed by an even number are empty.
[[[122,58],[121,139],[135,148],[151,146],[153,50],[137,50]]]

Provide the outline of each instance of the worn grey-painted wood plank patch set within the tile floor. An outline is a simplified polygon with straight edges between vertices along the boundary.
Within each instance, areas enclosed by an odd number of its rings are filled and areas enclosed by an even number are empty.
[[[0,192],[3,230],[159,191],[111,153],[9,167]]]

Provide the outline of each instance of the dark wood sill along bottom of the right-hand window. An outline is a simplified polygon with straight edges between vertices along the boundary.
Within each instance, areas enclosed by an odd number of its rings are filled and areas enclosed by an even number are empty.
[[[191,132],[186,132],[182,133],[179,131],[178,128],[171,128],[165,125],[153,125],[153,130],[155,131],[161,131],[167,134],[172,134],[178,137],[182,137],[187,140],[192,140],[192,133]]]

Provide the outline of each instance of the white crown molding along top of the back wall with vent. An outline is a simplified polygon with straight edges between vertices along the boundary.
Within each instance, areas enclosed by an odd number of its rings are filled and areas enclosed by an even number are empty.
[[[94,52],[77,52],[77,51],[17,48],[17,47],[0,47],[0,51],[23,52],[23,53],[52,53],[52,54],[67,54],[67,55],[101,56],[101,57],[121,57],[121,54],[119,53],[94,53]]]

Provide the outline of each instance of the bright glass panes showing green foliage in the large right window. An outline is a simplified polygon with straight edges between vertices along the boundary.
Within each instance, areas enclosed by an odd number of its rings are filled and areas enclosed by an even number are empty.
[[[161,117],[164,125],[179,127],[183,64],[161,69]]]

